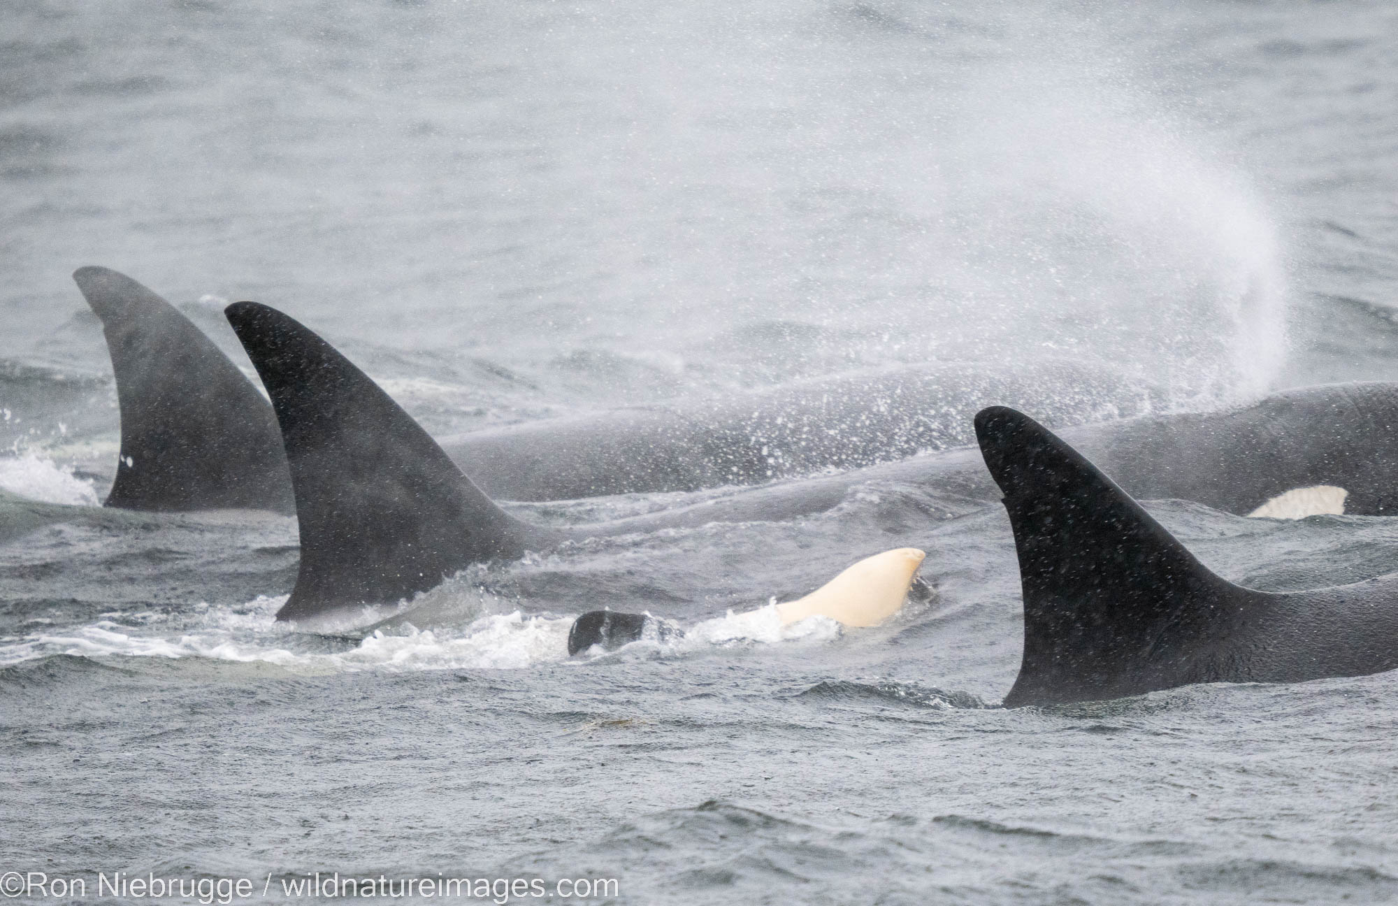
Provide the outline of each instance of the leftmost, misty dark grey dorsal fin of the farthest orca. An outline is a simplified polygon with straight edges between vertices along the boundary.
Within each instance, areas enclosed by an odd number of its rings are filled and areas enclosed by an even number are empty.
[[[130,277],[80,267],[73,280],[102,319],[122,408],[122,459],[106,505],[291,513],[277,418],[238,366]]]

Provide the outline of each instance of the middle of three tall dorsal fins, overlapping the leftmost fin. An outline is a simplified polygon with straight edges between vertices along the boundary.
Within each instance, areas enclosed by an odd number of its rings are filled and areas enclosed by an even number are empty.
[[[301,572],[278,619],[425,591],[558,535],[498,508],[387,393],[281,312],[224,313],[271,396],[301,522]]]

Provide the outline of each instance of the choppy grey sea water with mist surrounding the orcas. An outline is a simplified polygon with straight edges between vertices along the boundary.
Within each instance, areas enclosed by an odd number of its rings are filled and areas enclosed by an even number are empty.
[[[273,622],[294,520],[94,506],[82,264],[229,350],[224,301],[282,308],[442,435],[923,362],[1156,410],[1398,379],[1398,15],[1118,7],[6,4],[0,871],[1398,899],[1392,675],[1002,710],[1008,522],[935,488],[474,568],[368,636]],[[1257,587],[1398,569],[1392,520],[1151,509]],[[938,594],[891,625],[727,615],[900,545]],[[596,607],[691,632],[569,660]]]

